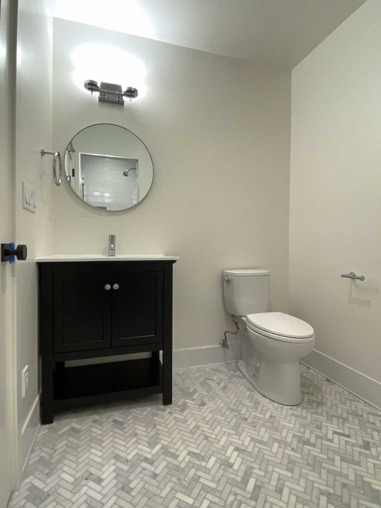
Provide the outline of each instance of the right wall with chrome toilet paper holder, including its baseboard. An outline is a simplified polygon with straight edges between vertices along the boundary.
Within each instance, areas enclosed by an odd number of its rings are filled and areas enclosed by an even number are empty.
[[[378,405],[380,54],[368,0],[293,70],[290,197],[290,311],[322,354],[307,362]],[[351,271],[365,281],[340,277]]]

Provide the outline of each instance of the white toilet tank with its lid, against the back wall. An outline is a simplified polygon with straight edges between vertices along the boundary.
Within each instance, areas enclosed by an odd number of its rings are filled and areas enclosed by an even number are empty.
[[[245,316],[270,310],[270,272],[268,270],[225,270],[224,299],[226,310]]]

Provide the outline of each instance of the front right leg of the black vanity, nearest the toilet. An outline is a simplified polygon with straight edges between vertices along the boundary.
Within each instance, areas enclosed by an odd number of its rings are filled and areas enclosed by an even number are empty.
[[[172,264],[164,265],[163,405],[172,404]]]

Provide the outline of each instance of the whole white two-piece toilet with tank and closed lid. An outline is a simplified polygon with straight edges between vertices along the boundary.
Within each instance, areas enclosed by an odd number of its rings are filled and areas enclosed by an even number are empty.
[[[239,370],[265,397],[300,404],[299,360],[313,349],[313,328],[289,314],[268,312],[267,270],[225,270],[224,299],[227,311],[246,324]]]

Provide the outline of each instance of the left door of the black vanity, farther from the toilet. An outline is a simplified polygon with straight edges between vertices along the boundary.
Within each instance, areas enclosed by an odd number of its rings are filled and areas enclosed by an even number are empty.
[[[53,284],[54,351],[110,347],[113,293],[110,275],[56,274]]]

